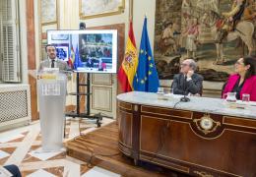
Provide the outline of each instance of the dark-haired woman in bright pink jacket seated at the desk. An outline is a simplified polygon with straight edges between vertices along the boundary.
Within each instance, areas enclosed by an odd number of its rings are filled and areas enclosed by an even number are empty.
[[[256,101],[256,59],[250,56],[240,58],[234,64],[234,75],[230,75],[224,87],[223,95],[236,92],[236,99],[242,94],[250,94],[250,100]]]

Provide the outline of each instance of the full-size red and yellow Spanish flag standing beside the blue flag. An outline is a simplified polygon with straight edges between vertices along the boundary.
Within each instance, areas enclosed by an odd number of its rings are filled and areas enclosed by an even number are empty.
[[[133,25],[130,21],[129,36],[122,65],[118,71],[118,80],[124,92],[133,90],[133,80],[138,67],[138,53],[136,49]]]

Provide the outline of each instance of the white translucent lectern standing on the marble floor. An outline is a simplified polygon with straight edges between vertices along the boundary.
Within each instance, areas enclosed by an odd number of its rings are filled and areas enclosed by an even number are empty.
[[[42,71],[37,77],[42,150],[63,148],[67,77],[58,71]]]

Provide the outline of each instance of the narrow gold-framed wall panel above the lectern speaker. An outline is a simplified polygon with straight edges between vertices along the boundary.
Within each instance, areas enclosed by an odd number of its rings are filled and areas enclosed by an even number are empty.
[[[59,0],[41,0],[40,1],[40,22],[41,26],[58,26],[58,5]],[[43,10],[43,11],[42,11]]]

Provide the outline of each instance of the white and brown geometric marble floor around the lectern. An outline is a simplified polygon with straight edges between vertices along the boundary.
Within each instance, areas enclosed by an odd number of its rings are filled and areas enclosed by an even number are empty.
[[[105,126],[113,120],[103,118]],[[66,121],[65,142],[96,130],[95,121],[69,119]],[[83,161],[66,155],[65,148],[57,152],[38,152],[41,147],[39,122],[30,126],[0,133],[0,165],[16,164],[23,176],[29,177],[107,177],[120,176],[97,166],[89,167]]]

